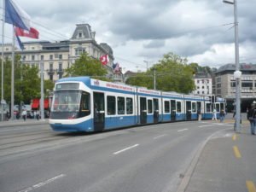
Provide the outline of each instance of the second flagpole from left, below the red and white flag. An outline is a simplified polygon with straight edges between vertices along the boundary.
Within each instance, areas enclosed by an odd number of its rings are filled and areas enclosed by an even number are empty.
[[[15,104],[15,26],[13,26],[12,79],[11,79],[11,119],[14,119]]]

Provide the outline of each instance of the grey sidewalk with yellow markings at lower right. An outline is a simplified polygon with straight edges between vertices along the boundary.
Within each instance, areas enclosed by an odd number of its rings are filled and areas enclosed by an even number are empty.
[[[256,192],[256,136],[248,124],[218,132],[195,156],[178,192]]]

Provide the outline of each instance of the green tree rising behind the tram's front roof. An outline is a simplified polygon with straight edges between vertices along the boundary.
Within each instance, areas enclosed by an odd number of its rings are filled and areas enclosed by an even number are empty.
[[[87,53],[80,56],[79,60],[73,63],[72,67],[67,68],[67,75],[65,77],[76,76],[104,76],[107,69],[102,66],[101,61],[90,57]],[[96,77],[96,79],[107,80],[103,77]]]

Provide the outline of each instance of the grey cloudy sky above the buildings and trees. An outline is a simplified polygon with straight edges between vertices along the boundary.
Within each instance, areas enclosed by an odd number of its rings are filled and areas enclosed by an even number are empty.
[[[13,1],[31,16],[40,40],[68,39],[76,24],[90,24],[125,71],[145,71],[144,61],[150,67],[168,52],[201,66],[235,62],[234,6],[222,0]],[[256,64],[256,1],[237,0],[237,6],[240,61]]]

